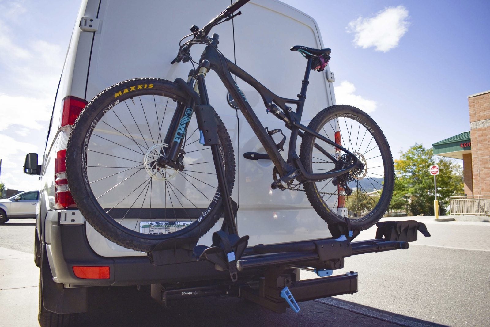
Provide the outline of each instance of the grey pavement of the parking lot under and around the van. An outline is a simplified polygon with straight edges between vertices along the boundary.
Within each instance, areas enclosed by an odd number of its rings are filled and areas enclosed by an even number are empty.
[[[297,314],[276,314],[242,299],[202,298],[162,309],[136,287],[92,290],[90,312],[79,326],[488,326],[490,224],[424,222],[408,250],[345,259],[359,273],[359,292],[301,302]],[[34,266],[34,220],[0,225],[0,326],[38,326],[38,269]],[[375,229],[356,240],[373,238]],[[316,277],[302,272],[301,279]]]

